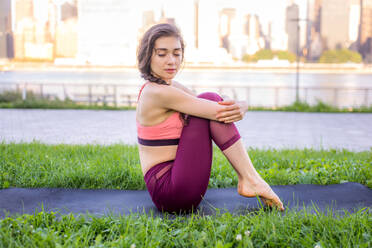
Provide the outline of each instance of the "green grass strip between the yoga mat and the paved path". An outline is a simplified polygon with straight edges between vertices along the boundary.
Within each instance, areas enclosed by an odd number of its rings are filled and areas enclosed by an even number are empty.
[[[274,185],[358,182],[372,188],[372,150],[249,149]],[[145,189],[136,146],[0,144],[0,188]],[[215,149],[209,187],[235,187],[237,176]]]

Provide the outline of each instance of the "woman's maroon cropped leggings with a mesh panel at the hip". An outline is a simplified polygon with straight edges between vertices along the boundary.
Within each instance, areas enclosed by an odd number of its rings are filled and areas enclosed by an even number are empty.
[[[199,98],[220,101],[215,93]],[[152,201],[160,211],[180,212],[195,209],[204,196],[212,166],[212,140],[223,151],[240,139],[233,123],[188,117],[183,127],[176,158],[150,168],[145,175]]]

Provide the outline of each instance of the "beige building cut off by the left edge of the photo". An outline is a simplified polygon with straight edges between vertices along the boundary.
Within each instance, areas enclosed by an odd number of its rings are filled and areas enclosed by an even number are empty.
[[[11,1],[0,0],[0,59],[13,58]]]

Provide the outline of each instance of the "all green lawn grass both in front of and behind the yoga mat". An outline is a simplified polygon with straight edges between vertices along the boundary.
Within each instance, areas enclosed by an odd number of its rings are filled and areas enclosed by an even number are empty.
[[[359,182],[372,188],[372,150],[260,150],[251,159],[270,184]],[[0,143],[0,188],[145,189],[136,146]],[[209,187],[237,177],[215,149]],[[247,215],[152,213],[60,215],[40,212],[0,220],[0,247],[371,247],[372,212],[308,210]]]

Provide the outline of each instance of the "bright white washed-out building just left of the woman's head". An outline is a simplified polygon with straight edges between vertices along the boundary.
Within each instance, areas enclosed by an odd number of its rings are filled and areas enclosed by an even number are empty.
[[[78,1],[77,59],[134,65],[142,12],[132,8],[130,0]]]

